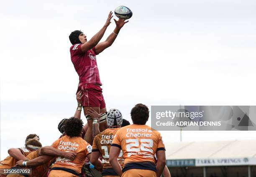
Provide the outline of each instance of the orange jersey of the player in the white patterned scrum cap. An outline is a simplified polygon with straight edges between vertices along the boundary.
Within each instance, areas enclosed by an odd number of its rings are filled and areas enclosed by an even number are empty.
[[[114,135],[118,131],[118,129],[120,128],[105,129],[100,134],[97,134],[97,136],[93,140],[92,152],[100,152],[100,156],[102,156],[103,170],[107,168],[112,168],[112,166],[109,163],[109,152],[111,144],[113,142]],[[118,162],[121,165],[121,167],[123,167],[124,159],[122,151],[118,156]]]

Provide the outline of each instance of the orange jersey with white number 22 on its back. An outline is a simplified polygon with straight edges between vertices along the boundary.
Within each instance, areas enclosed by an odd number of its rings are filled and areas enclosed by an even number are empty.
[[[123,151],[124,168],[156,171],[156,151],[165,150],[161,134],[147,125],[132,124],[120,128],[111,146]]]

